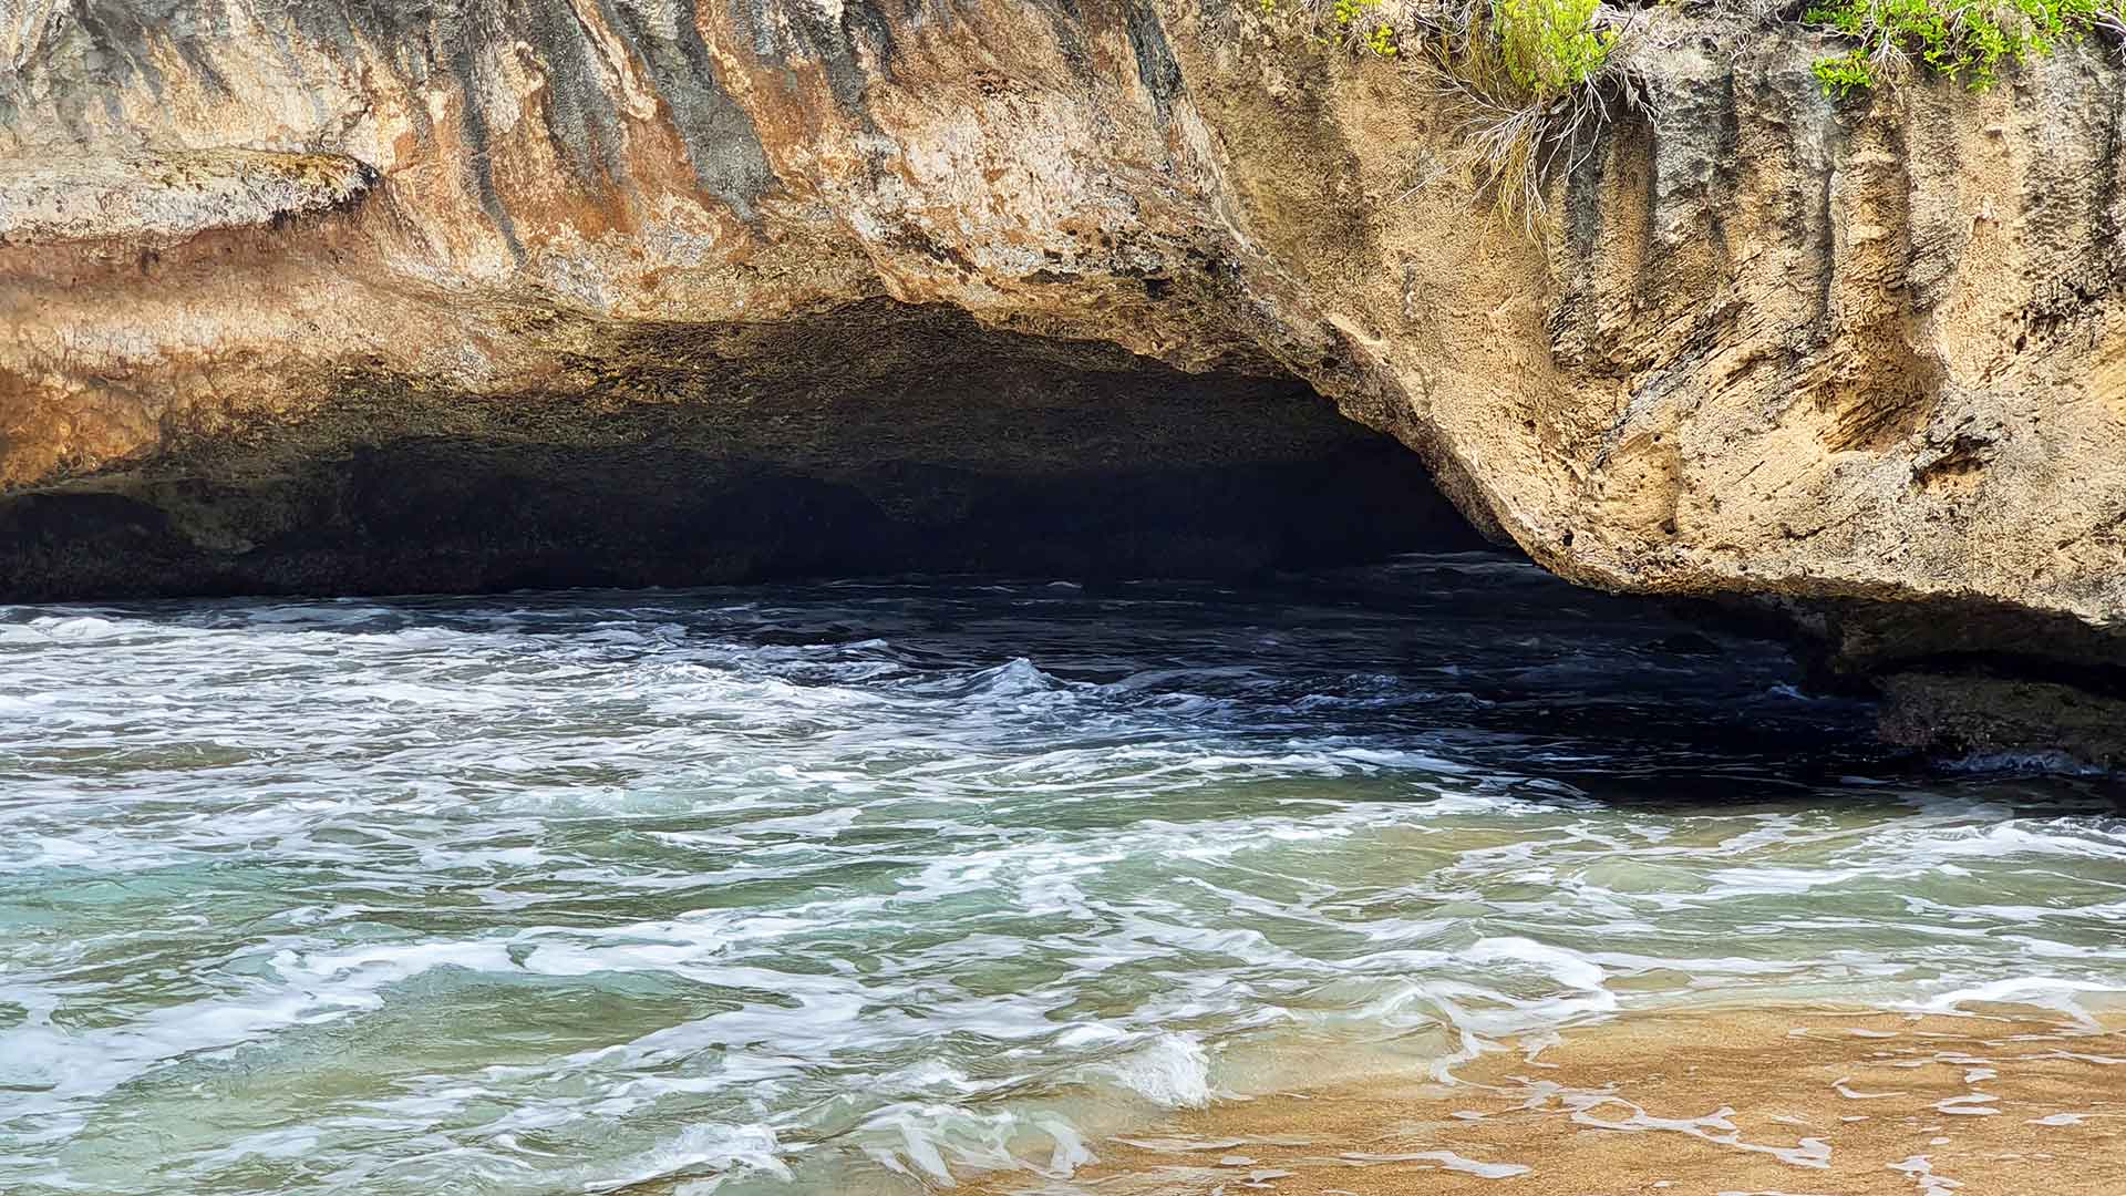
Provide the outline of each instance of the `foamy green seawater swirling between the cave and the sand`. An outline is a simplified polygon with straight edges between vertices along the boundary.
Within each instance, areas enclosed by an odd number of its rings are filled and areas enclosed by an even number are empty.
[[[1484,555],[0,609],[0,1190],[916,1192],[1656,1007],[2126,996],[2094,779]]]

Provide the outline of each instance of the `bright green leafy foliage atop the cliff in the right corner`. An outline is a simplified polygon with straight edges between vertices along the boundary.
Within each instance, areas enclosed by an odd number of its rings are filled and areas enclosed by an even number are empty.
[[[1884,66],[1903,55],[1984,92],[2001,79],[2003,62],[2117,28],[2120,0],[1816,0],[1803,19],[1860,43],[1816,60],[1816,79],[1830,96],[1879,85]]]

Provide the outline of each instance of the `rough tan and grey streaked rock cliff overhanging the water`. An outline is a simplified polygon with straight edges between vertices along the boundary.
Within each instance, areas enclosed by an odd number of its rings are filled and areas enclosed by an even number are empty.
[[[1529,240],[1441,168],[1465,113],[1239,0],[13,2],[15,500],[198,460],[244,489],[476,413],[595,443],[770,379],[731,330],[884,351],[910,321],[878,304],[914,304],[1303,379],[1565,577],[1896,628],[1841,668],[2126,658],[2098,47],[1833,104],[1807,36],[1671,13],[1663,119]],[[725,383],[682,381],[689,328],[738,338]],[[952,402],[984,400],[1014,402]],[[0,589],[49,562],[0,549]]]

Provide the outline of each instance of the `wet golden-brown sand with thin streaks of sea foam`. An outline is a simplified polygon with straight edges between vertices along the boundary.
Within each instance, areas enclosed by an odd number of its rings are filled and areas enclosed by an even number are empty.
[[[2126,1026],[2030,1011],[1667,1013],[1431,1077],[1222,1100],[976,1192],[2120,1196]]]

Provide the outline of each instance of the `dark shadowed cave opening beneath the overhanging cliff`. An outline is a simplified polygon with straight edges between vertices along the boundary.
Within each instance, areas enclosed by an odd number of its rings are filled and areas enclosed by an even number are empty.
[[[874,300],[589,326],[540,394],[342,379],[300,419],[0,498],[0,600],[1239,577],[1480,543],[1410,449],[1265,364]]]

